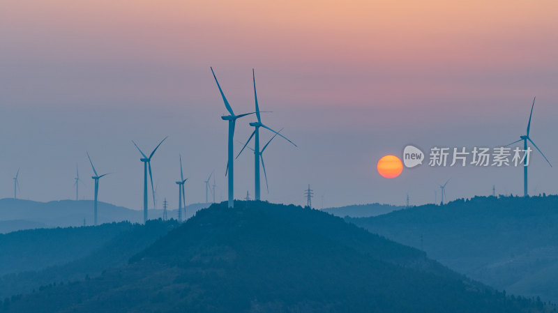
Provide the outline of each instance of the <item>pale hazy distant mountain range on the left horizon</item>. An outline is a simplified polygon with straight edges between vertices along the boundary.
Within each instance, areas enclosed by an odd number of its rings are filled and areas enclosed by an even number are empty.
[[[191,217],[196,211],[208,207],[209,204],[190,204],[186,206],[185,218]],[[169,210],[169,218],[178,218],[178,210]],[[163,217],[163,210],[149,210],[149,219]],[[123,206],[114,206],[98,202],[99,224],[107,222],[129,221],[143,222],[143,213]],[[0,234],[21,229],[49,227],[77,227],[93,222],[92,200],[61,200],[38,202],[22,199],[0,199]]]

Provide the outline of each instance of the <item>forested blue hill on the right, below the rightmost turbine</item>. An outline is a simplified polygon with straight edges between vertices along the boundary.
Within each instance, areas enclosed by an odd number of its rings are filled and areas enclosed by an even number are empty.
[[[354,224],[497,289],[558,301],[558,197],[476,197]],[[421,242],[422,238],[422,242]]]

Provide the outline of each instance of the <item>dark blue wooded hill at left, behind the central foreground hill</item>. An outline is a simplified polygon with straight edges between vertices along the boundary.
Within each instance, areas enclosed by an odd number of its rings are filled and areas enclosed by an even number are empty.
[[[0,268],[10,272],[0,276],[0,298],[29,293],[53,282],[82,280],[86,275],[127,264],[130,257],[177,225],[176,220],[149,220],[146,224],[120,222],[4,235],[0,242],[12,245],[2,250],[7,253],[0,257]],[[0,249],[4,247],[0,245]],[[18,260],[24,262],[17,264]],[[27,271],[20,273],[22,268]]]

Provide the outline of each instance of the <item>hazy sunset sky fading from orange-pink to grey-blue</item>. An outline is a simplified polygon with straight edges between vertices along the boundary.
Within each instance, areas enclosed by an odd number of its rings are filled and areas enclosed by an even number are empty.
[[[75,167],[91,199],[142,208],[140,153],[153,157],[158,207],[176,207],[179,154],[188,204],[205,201],[214,171],[226,199],[227,123],[216,71],[234,112],[252,112],[255,68],[262,122],[276,138],[264,153],[269,194],[314,206],[439,201],[521,194],[522,169],[404,169],[377,173],[407,144],[473,147],[525,135],[558,167],[556,1],[24,0],[0,3],[0,197],[75,197]],[[252,131],[240,119],[235,151]],[[262,132],[262,142],[271,133]],[[246,151],[248,152],[248,151]],[[147,152],[146,152],[147,153]],[[253,197],[253,155],[235,162],[235,197]],[[262,173],[263,175],[263,173]],[[558,193],[541,155],[529,192]],[[262,183],[264,179],[262,177]],[[153,204],[150,204],[150,208]]]

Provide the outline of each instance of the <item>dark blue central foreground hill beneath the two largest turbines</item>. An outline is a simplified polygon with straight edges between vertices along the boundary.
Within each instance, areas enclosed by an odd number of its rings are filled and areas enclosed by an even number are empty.
[[[81,282],[4,300],[3,312],[539,312],[327,213],[215,204]],[[421,270],[424,268],[425,270]],[[538,305],[538,307],[537,307]]]

